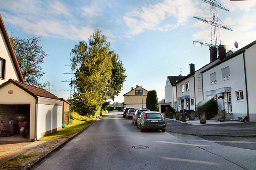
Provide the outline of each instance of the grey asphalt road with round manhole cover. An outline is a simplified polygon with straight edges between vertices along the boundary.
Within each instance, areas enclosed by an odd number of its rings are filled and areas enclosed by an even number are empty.
[[[110,112],[36,170],[256,169],[256,150],[219,145],[197,136],[145,131],[122,112]]]

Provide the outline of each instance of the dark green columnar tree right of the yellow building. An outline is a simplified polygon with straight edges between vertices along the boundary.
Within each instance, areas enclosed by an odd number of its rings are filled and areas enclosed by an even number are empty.
[[[150,109],[150,111],[159,111],[156,90],[148,91],[147,98],[146,98],[146,106],[147,106],[147,109]]]

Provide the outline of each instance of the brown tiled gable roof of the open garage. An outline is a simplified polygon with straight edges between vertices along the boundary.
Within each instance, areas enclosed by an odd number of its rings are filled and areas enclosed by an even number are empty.
[[[44,98],[60,100],[60,98],[58,98],[57,96],[55,96],[54,94],[48,92],[43,88],[25,84],[17,80],[12,80],[11,78],[7,82],[4,82],[3,84],[1,84],[0,88],[2,88],[3,86],[6,86],[9,83],[16,85],[17,87],[21,88],[22,90],[24,90],[25,92],[33,96],[34,98],[44,97]]]

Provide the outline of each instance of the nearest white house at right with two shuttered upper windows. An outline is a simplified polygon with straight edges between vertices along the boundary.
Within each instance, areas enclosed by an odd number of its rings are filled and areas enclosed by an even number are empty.
[[[204,98],[214,97],[230,119],[256,121],[256,41],[202,71]],[[224,96],[224,99],[220,98]]]

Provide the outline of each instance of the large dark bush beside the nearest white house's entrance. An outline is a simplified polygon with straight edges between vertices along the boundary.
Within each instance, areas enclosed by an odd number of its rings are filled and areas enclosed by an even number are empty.
[[[199,117],[202,117],[202,115],[205,115],[206,119],[213,118],[214,115],[218,113],[218,102],[217,100],[214,100],[213,98],[210,100],[203,100],[199,102],[196,106],[196,114]]]

